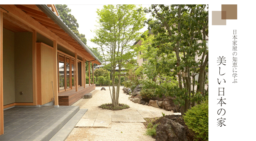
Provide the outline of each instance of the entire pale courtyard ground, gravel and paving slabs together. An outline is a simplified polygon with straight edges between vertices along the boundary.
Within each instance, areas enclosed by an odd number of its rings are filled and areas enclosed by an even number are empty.
[[[69,140],[139,140],[148,141],[153,138],[146,136],[146,128],[143,125],[144,118],[161,117],[163,114],[180,114],[172,113],[163,109],[152,106],[133,103],[128,99],[129,95],[123,93],[120,88],[119,103],[127,104],[129,109],[111,111],[99,108],[101,104],[111,103],[110,91],[108,87],[106,91],[100,90],[102,87],[96,87],[92,91],[92,98],[80,99],[73,106],[80,106],[80,109],[88,109],[80,121],[76,124],[74,130],[68,136]],[[112,87],[111,87],[112,89]],[[94,128],[104,127],[104,128]],[[86,132],[86,134],[84,134]],[[84,135],[80,135],[84,134]]]

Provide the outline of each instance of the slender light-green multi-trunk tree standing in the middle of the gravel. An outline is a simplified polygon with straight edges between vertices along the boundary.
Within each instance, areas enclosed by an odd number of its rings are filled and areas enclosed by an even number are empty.
[[[111,69],[113,86],[110,95],[112,105],[117,106],[119,104],[121,67],[123,67],[124,61],[134,55],[130,51],[131,44],[141,34],[138,31],[143,27],[145,13],[141,7],[137,9],[135,5],[104,5],[103,9],[98,10],[97,13],[99,28],[94,31],[96,36],[91,41],[101,47],[105,61],[110,62],[108,66]],[[115,71],[117,66],[118,72]],[[115,90],[116,76],[118,77],[117,90]]]

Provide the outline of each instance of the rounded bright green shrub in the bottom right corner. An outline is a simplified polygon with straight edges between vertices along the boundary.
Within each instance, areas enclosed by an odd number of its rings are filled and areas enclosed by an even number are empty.
[[[194,140],[208,141],[208,101],[189,109],[183,119],[188,128],[195,132]]]

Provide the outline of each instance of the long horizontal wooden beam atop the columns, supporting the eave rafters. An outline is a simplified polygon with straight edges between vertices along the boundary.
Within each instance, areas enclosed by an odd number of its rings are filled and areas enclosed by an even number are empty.
[[[62,38],[54,34],[52,31],[41,25],[38,21],[34,18],[28,16],[25,12],[21,9],[18,9],[15,5],[1,5],[4,9],[9,11],[8,15],[14,17],[15,19],[23,22],[24,24],[28,25],[29,27],[35,29],[38,33],[42,34],[43,36],[49,38],[50,40],[56,40],[59,45],[65,47],[71,52],[77,52],[78,56],[85,57],[85,54],[81,53],[73,46],[69,45],[65,42]]]

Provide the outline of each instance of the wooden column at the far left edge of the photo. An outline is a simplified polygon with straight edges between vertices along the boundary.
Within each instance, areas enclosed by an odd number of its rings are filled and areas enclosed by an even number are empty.
[[[3,134],[3,12],[0,11],[0,135]]]

